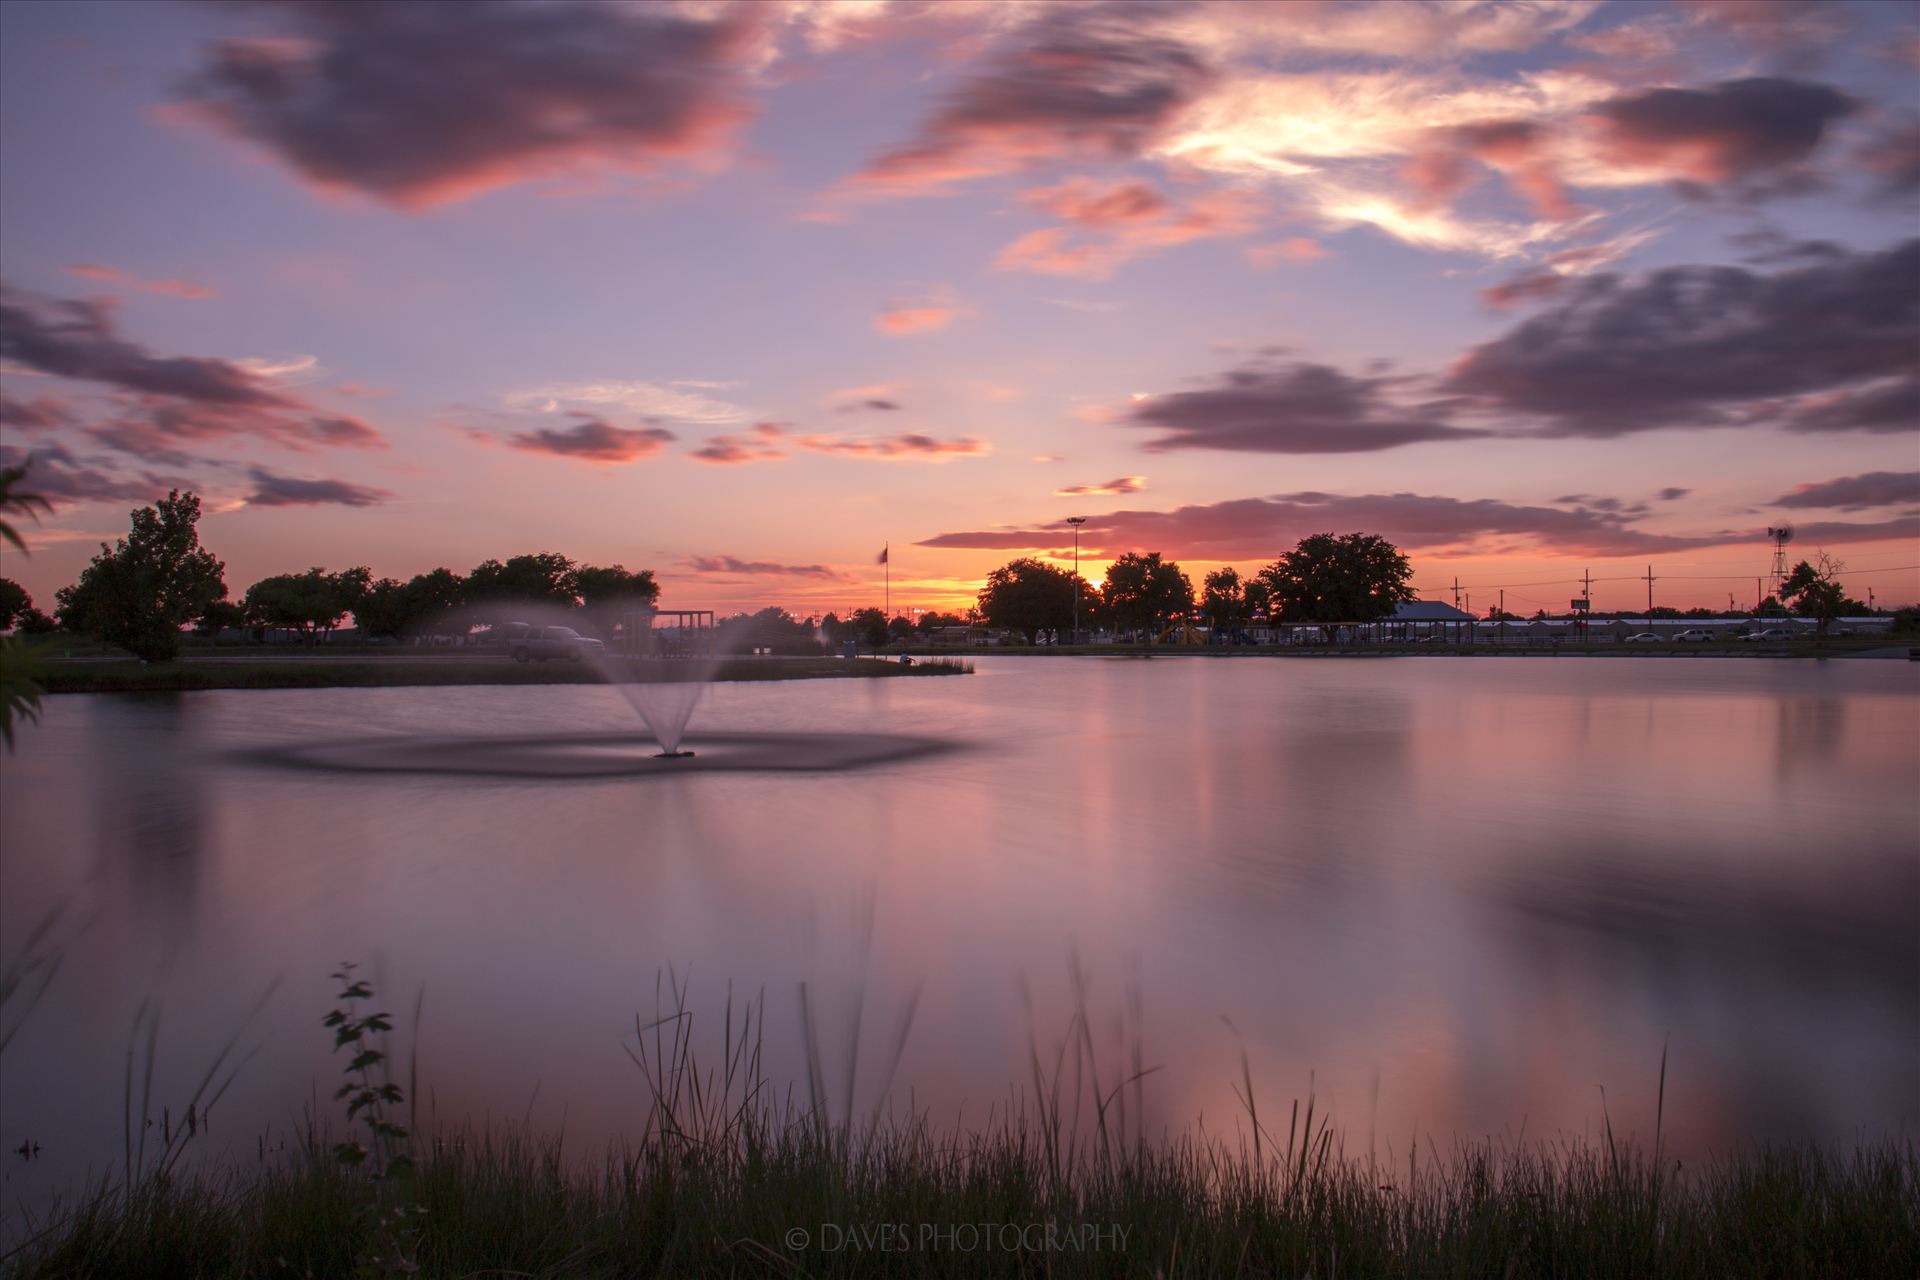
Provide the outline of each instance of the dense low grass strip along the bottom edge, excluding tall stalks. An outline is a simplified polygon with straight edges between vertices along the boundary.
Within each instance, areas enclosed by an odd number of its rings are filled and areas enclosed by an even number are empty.
[[[1198,1138],[1062,1167],[1046,1130],[1010,1125],[868,1144],[660,1134],[568,1169],[559,1144],[492,1132],[436,1142],[401,1184],[315,1155],[131,1201],[100,1192],[8,1272],[380,1274],[378,1205],[399,1197],[424,1209],[405,1259],[420,1276],[1920,1274],[1910,1146],[1759,1150],[1692,1171],[1469,1146],[1386,1174],[1311,1142],[1256,1159]]]

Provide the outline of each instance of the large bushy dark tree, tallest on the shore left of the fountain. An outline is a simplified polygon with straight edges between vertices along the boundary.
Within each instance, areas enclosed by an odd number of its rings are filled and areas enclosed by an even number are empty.
[[[200,499],[171,491],[132,512],[132,532],[56,593],[60,624],[146,662],[180,652],[180,626],[227,599],[227,566],[200,545]]]

